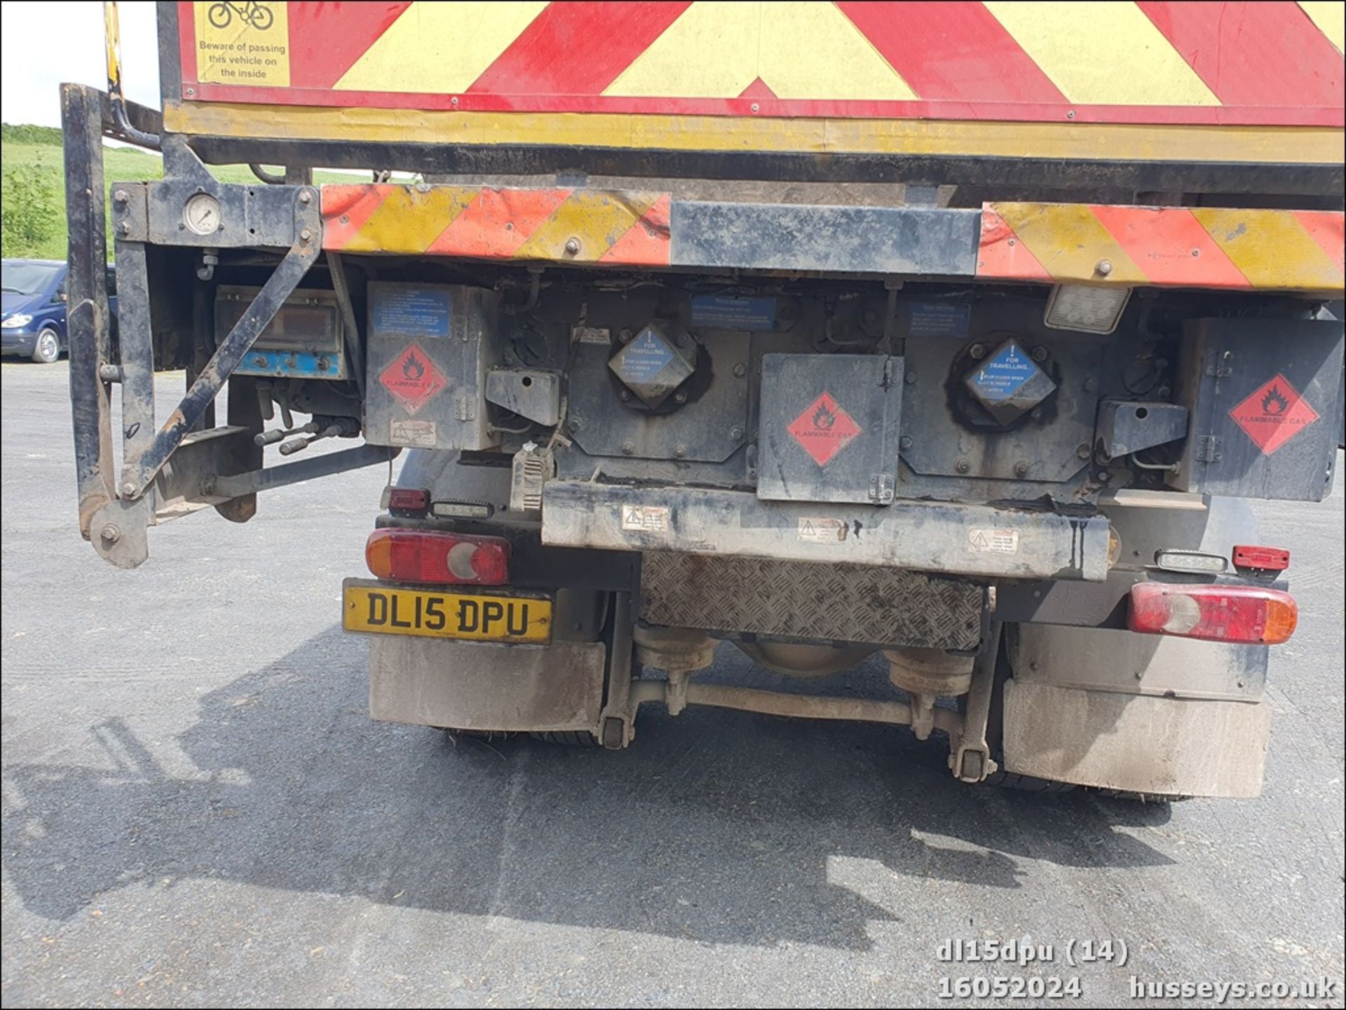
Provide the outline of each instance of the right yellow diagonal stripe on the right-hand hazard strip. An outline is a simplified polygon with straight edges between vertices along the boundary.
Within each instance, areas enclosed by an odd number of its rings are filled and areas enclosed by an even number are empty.
[[[1342,272],[1288,211],[1193,207],[1193,215],[1254,288],[1341,289]]]

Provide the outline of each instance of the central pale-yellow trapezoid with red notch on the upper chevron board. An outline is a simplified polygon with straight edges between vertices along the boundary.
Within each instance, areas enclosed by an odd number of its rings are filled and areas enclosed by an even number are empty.
[[[781,98],[917,97],[835,4],[756,0],[697,0],[603,94],[736,98],[759,77]]]

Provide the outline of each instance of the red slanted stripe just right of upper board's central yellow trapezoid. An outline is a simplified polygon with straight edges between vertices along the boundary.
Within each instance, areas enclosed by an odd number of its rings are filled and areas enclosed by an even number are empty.
[[[839,3],[921,98],[1065,102],[1066,97],[980,3]]]

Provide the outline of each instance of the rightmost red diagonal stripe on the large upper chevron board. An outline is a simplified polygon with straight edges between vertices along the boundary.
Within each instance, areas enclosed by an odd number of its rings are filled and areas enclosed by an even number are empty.
[[[1139,3],[1225,105],[1339,105],[1342,55],[1295,3]]]

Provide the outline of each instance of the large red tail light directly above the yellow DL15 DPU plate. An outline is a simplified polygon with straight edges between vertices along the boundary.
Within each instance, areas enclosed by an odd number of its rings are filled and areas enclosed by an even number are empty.
[[[509,541],[460,533],[374,530],[365,543],[365,564],[378,578],[394,582],[505,585]]]

